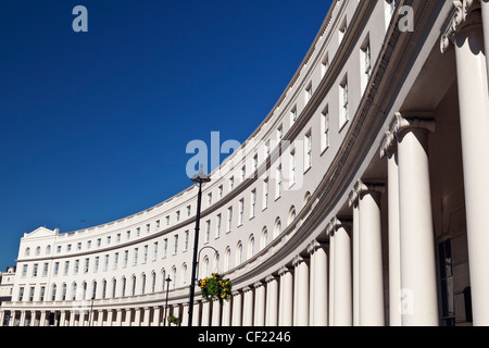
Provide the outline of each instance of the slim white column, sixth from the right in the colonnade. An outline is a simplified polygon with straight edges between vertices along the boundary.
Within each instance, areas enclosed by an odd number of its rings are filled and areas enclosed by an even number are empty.
[[[296,289],[294,297],[297,299],[296,319],[297,326],[309,325],[309,261],[298,256],[293,260],[293,266],[296,268]]]

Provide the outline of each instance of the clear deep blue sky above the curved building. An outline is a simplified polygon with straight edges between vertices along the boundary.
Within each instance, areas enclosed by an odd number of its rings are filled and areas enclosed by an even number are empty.
[[[1,0],[0,270],[24,233],[102,224],[189,187],[187,144],[244,141],[330,3]],[[88,33],[72,29],[77,4]]]

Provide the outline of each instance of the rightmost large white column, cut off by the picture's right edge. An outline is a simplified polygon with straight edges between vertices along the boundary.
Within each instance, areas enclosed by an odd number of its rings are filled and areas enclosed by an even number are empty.
[[[484,33],[488,3],[482,0]],[[455,36],[460,124],[474,325],[489,325],[489,99],[480,18],[471,14]],[[489,40],[489,35],[485,37]]]

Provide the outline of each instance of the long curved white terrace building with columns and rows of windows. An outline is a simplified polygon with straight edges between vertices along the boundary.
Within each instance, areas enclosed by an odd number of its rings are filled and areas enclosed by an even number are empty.
[[[456,2],[457,3],[457,2]],[[202,195],[193,325],[489,325],[489,4],[334,1]],[[441,44],[441,49],[440,49]],[[197,187],[21,239],[9,325],[186,325]],[[93,298],[93,300],[92,300]],[[223,308],[221,308],[223,307]]]

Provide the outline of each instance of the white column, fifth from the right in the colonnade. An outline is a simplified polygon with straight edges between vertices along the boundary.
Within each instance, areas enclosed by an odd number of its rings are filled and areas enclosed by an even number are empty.
[[[325,244],[313,241],[313,251],[311,260],[314,260],[314,291],[312,297],[313,325],[328,325],[328,258],[327,246]],[[311,308],[311,307],[310,307]]]

